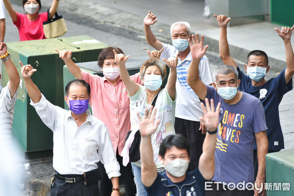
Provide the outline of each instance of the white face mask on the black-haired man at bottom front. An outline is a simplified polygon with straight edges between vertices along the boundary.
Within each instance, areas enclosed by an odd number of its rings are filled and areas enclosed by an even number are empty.
[[[181,177],[185,175],[189,167],[189,161],[184,159],[174,159],[168,164],[165,162],[165,164],[167,165],[167,167],[165,167],[166,171],[175,177]]]

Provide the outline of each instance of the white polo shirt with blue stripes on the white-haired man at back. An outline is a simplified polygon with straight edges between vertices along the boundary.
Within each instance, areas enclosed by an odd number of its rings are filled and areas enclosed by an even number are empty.
[[[168,59],[169,57],[176,57],[178,50],[175,49],[174,46],[164,43],[162,44],[164,49],[161,53],[161,58]],[[176,69],[177,79],[175,85],[177,94],[175,117],[200,122],[199,116],[203,115],[200,100],[187,83],[187,74],[191,61],[191,52],[183,61],[178,58]],[[205,55],[201,58],[199,63],[199,78],[206,85],[212,83],[209,61]]]

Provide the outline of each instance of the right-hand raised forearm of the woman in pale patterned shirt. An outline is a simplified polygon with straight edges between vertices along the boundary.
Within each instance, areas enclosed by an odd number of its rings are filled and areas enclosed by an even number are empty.
[[[170,57],[168,60],[165,58],[162,59],[166,62],[166,64],[170,68],[170,74],[169,74],[166,88],[167,88],[168,94],[170,95],[172,100],[174,100],[174,98],[175,98],[176,66],[178,63],[178,56],[179,56],[179,54],[176,55],[176,58]]]

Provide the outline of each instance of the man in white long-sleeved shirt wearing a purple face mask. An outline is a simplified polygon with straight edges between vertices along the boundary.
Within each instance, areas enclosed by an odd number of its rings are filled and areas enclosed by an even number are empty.
[[[30,78],[34,72],[31,65],[22,64],[30,104],[53,131],[51,196],[99,196],[99,161],[112,181],[111,196],[119,196],[120,165],[106,126],[88,110],[90,85],[79,79],[67,84],[68,111],[46,100]]]

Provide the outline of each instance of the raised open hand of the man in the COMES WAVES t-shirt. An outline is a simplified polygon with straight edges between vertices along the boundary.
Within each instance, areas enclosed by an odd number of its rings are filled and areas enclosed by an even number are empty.
[[[196,40],[195,40],[194,35],[192,35],[192,40],[193,40],[193,43],[192,43],[191,39],[189,38],[189,45],[190,45],[190,49],[191,49],[192,58],[193,59],[201,59],[204,56],[204,54],[208,48],[208,45],[206,45],[203,48],[204,36],[201,35],[201,40],[199,42],[198,33],[196,33]]]

